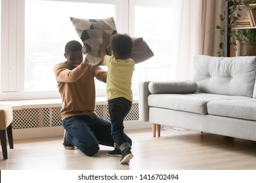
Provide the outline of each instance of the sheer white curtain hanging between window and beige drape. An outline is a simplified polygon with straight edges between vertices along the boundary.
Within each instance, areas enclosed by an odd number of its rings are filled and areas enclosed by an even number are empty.
[[[202,1],[181,0],[176,79],[192,78],[192,59],[202,54]]]

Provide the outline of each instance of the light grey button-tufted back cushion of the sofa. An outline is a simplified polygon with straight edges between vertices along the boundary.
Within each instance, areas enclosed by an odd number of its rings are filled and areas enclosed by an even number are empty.
[[[196,56],[193,79],[198,92],[253,97],[256,56],[221,58]]]

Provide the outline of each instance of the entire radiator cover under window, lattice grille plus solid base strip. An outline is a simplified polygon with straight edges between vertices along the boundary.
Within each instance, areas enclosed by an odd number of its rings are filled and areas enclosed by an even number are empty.
[[[51,137],[62,135],[64,128],[60,116],[61,107],[49,105],[43,107],[22,108],[13,110],[12,129],[14,139]],[[96,105],[96,114],[110,120],[108,105]],[[133,103],[125,118],[125,129],[150,127],[149,123],[139,122],[139,104]]]

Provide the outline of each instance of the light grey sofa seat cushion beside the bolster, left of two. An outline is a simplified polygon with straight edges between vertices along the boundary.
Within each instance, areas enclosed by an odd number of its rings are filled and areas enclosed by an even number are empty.
[[[217,95],[211,93],[184,93],[184,94],[150,94],[149,107],[169,108],[198,114],[207,114],[207,103],[219,100],[249,99],[249,97],[233,95]]]

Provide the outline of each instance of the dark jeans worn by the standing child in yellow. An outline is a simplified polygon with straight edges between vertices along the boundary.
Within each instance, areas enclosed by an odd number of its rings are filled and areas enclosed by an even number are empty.
[[[130,138],[127,137],[123,131],[123,120],[129,113],[131,105],[131,101],[124,97],[118,97],[108,101],[108,111],[110,113],[110,121],[112,124],[111,135],[121,151],[125,148],[131,148]]]

